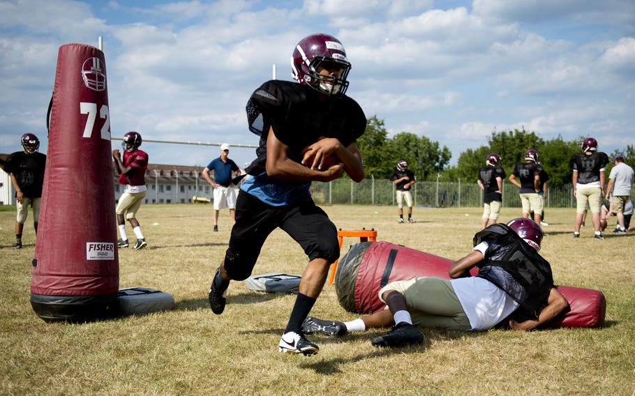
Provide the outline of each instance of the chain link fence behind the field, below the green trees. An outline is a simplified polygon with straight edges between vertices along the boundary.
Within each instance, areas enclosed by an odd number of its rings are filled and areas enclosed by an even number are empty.
[[[477,183],[447,181],[418,181],[411,188],[414,206],[478,207],[483,203],[483,192]],[[316,204],[394,205],[394,183],[387,179],[366,178],[361,183],[340,178],[329,183],[313,182],[311,193]],[[521,198],[518,188],[511,183],[503,183],[502,205],[520,208]],[[576,199],[571,184],[549,187],[547,208],[574,208]]]

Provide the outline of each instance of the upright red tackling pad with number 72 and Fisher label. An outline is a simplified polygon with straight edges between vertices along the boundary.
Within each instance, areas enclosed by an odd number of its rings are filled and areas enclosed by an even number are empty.
[[[59,48],[31,305],[42,319],[89,320],[117,307],[106,63],[96,47]]]

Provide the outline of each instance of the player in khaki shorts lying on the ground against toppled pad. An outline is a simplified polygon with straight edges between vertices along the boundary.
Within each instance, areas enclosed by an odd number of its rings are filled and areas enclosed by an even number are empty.
[[[514,330],[531,330],[569,305],[553,285],[551,266],[538,254],[542,236],[539,225],[527,218],[492,224],[475,235],[472,252],[449,268],[451,280],[391,282],[379,291],[389,310],[345,323],[308,317],[302,330],[344,335],[394,325],[372,341],[375,347],[420,344],[424,337],[416,326],[479,331],[507,320]],[[475,266],[479,274],[472,277]]]

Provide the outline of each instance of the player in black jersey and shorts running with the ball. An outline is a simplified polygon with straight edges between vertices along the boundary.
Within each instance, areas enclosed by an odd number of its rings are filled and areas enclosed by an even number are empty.
[[[295,46],[291,67],[299,84],[265,82],[248,100],[249,129],[260,137],[260,147],[246,168],[249,176],[240,188],[236,223],[209,289],[209,305],[215,314],[223,312],[230,280],[249,277],[267,236],[283,229],[304,249],[308,264],[278,349],[306,356],[319,348],[306,340],[301,324],[339,257],[336,228],[315,206],[309,188],[312,181],[335,180],[344,172],[357,182],[364,178],[356,139],[366,116],[345,96],[351,65],[337,38],[306,36]],[[323,167],[331,155],[339,162]]]

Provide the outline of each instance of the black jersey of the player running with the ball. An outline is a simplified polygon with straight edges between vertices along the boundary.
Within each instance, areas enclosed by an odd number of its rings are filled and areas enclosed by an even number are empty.
[[[304,148],[321,137],[334,137],[348,146],[366,130],[366,116],[355,100],[324,96],[297,82],[265,82],[248,100],[246,111],[249,130],[260,136],[258,158],[247,168],[251,174],[264,170],[270,127],[297,162]]]

